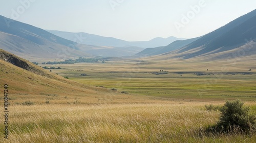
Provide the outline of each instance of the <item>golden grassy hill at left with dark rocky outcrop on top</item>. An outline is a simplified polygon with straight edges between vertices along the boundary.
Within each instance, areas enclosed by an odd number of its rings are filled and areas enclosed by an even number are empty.
[[[0,79],[1,85],[9,85],[11,97],[27,95],[31,96],[31,100],[40,99],[41,102],[44,102],[45,97],[52,95],[67,96],[72,100],[72,96],[83,95],[90,100],[95,99],[95,96],[101,97],[112,92],[107,88],[67,80],[4,50],[0,50]],[[60,103],[67,101],[60,100]]]

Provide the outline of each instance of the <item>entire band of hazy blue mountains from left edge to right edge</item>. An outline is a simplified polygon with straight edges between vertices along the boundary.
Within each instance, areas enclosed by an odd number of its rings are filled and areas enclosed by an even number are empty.
[[[128,42],[87,33],[49,31],[0,17],[0,47],[26,59],[68,59],[74,57],[157,56],[158,59],[255,56],[256,10],[204,36],[177,40],[155,38],[150,41]],[[72,41],[71,41],[72,40]],[[176,40],[176,41],[173,41]],[[168,42],[173,41],[173,42]],[[165,46],[157,46],[166,44]],[[140,47],[138,47],[140,46]],[[151,47],[144,49],[142,47]],[[242,51],[242,52],[241,52]],[[239,53],[240,52],[240,53]],[[240,55],[239,55],[240,54]]]

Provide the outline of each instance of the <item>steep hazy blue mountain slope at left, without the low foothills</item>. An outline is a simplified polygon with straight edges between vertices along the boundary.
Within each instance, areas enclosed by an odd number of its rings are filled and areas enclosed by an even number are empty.
[[[10,21],[9,23],[6,21]],[[0,16],[0,47],[28,60],[93,57],[77,43],[34,26]]]

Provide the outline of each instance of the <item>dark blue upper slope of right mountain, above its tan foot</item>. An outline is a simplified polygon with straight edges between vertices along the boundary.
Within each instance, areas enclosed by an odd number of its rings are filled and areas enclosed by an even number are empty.
[[[236,49],[256,39],[256,10],[184,46],[176,54],[183,59]],[[187,51],[193,50],[194,52]],[[185,54],[187,53],[187,54]]]

